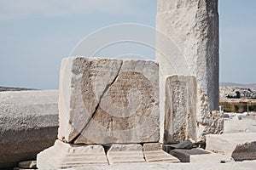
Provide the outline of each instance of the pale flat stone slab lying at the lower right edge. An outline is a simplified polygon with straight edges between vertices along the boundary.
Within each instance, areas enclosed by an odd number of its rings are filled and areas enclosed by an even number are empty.
[[[207,150],[222,153],[235,161],[256,160],[256,133],[208,134]]]

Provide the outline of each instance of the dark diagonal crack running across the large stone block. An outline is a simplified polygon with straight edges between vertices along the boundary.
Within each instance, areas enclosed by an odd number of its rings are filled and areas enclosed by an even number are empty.
[[[82,128],[81,132],[73,138],[73,140],[71,141],[71,143],[73,144],[77,139],[79,139],[79,136],[82,135],[82,133],[84,132],[84,130],[86,129],[86,127],[89,125],[91,119],[94,118],[94,116],[96,115],[96,111],[98,110],[98,108],[100,107],[101,103],[102,103],[102,98],[104,96],[104,94],[106,94],[108,92],[108,89],[113,85],[114,82],[116,82],[117,78],[119,77],[119,73],[121,71],[121,68],[123,66],[123,61],[121,60],[121,65],[119,67],[119,70],[116,74],[116,76],[113,78],[113,81],[110,82],[109,84],[107,84],[106,88],[103,90],[102,95],[100,96],[99,102],[96,105],[95,111],[93,111],[92,115],[90,116],[90,119],[88,120],[88,122],[84,125],[84,127]]]

